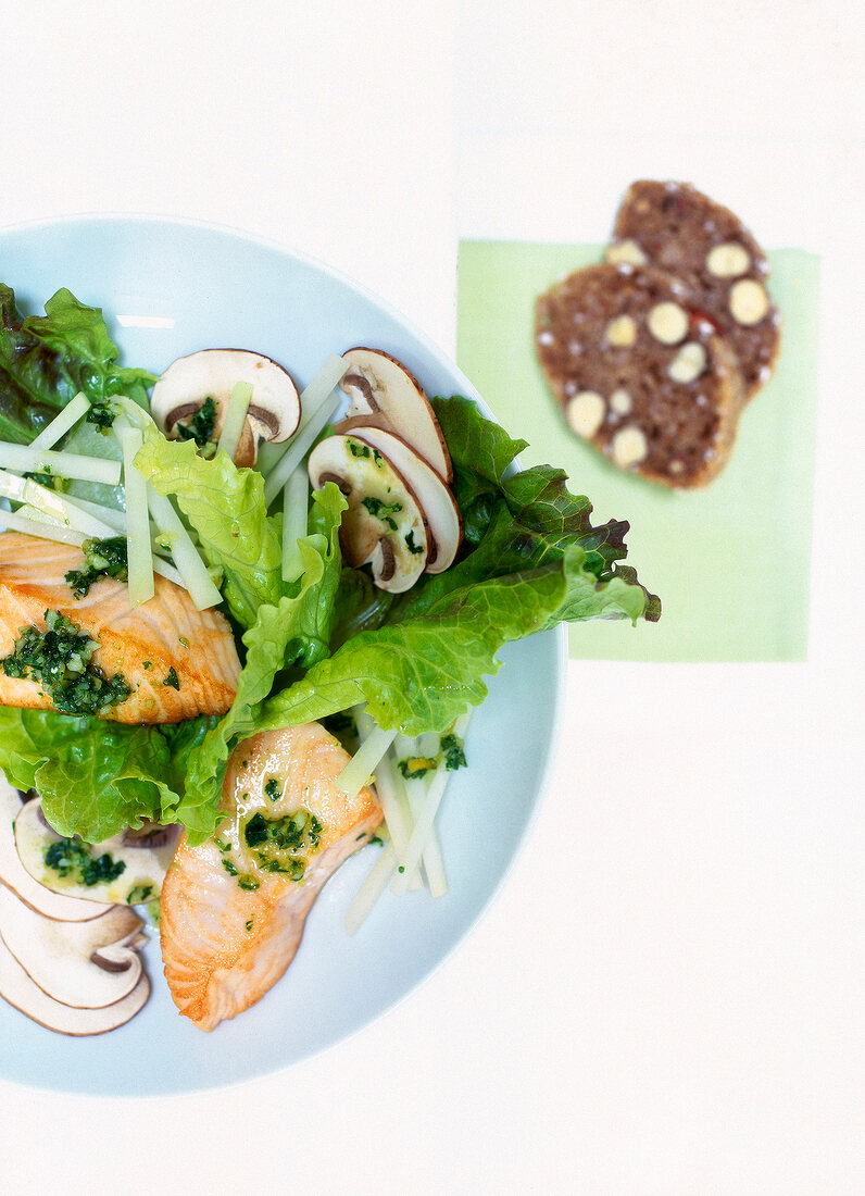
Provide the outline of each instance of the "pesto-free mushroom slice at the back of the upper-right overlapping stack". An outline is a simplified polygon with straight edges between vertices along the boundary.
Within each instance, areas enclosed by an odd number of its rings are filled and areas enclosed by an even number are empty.
[[[343,353],[341,383],[351,398],[349,416],[375,415],[401,437],[446,482],[453,480],[450,453],[423,386],[401,361],[381,349]]]

